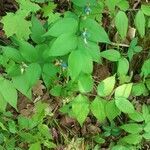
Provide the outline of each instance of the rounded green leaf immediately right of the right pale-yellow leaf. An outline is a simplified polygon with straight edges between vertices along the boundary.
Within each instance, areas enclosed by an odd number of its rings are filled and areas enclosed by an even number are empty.
[[[140,96],[147,94],[148,91],[144,83],[135,83],[133,84],[131,94],[133,96]]]

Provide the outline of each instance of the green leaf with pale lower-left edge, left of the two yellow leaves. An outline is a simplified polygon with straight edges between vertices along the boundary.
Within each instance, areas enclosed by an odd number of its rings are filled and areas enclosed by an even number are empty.
[[[81,93],[87,93],[93,89],[93,79],[91,75],[81,74],[78,79],[78,87]]]

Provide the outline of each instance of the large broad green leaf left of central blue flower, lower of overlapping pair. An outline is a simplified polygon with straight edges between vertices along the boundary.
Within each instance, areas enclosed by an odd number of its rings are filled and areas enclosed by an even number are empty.
[[[60,35],[52,44],[49,51],[50,56],[63,56],[76,49],[77,37],[71,34]]]

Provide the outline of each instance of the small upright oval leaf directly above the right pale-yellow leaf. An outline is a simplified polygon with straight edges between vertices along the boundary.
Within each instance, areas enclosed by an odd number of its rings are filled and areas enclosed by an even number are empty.
[[[117,74],[119,76],[126,75],[129,71],[129,62],[126,58],[122,57],[118,61]]]

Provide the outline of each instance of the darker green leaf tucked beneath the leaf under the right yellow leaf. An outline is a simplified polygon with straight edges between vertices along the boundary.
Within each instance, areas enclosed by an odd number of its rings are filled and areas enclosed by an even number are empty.
[[[118,115],[120,115],[120,110],[116,107],[115,101],[113,100],[107,102],[105,111],[106,111],[106,116],[110,121],[112,121]]]

